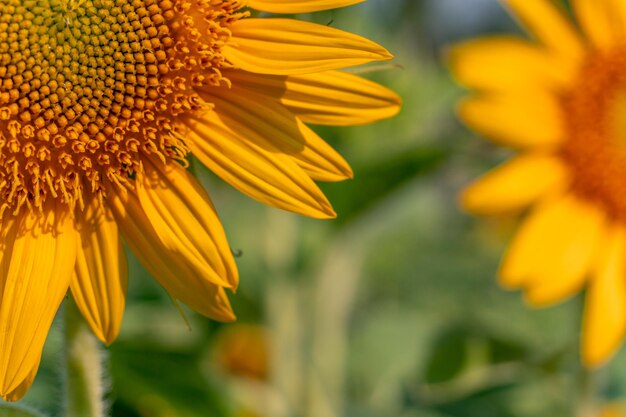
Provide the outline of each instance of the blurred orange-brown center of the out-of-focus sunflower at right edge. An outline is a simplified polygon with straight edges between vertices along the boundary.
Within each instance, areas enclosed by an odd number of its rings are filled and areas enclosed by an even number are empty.
[[[589,59],[563,110],[574,191],[626,220],[626,52]]]

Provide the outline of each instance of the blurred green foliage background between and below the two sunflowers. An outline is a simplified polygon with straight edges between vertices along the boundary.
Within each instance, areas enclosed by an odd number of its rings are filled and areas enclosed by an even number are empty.
[[[626,355],[579,364],[581,299],[531,310],[495,275],[513,217],[474,219],[457,195],[507,151],[455,119],[451,43],[519,33],[497,0],[370,0],[299,16],[388,47],[359,69],[404,99],[373,126],[320,128],[355,179],[323,184],[339,215],[268,209],[196,167],[239,255],[238,321],[186,311],[131,260],[107,349],[114,417],[555,417],[626,393]],[[24,402],[59,415],[61,323]],[[609,415],[609,414],[605,414]]]

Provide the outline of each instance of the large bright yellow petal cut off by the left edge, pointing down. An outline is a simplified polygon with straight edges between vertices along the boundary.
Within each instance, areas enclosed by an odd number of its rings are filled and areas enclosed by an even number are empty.
[[[76,259],[76,231],[64,209],[24,214],[7,232],[0,261],[0,395],[18,390],[40,360]]]

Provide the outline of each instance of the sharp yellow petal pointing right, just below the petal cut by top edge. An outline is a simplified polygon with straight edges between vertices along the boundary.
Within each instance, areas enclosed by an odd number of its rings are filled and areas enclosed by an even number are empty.
[[[382,46],[339,29],[293,19],[242,19],[224,56],[260,74],[305,74],[388,60]]]

